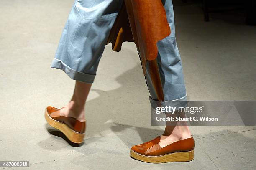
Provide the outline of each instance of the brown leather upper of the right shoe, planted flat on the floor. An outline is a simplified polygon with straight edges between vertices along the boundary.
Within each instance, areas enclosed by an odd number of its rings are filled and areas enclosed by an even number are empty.
[[[131,148],[134,152],[145,156],[161,156],[174,152],[187,152],[191,151],[195,147],[195,141],[193,137],[179,140],[161,148],[159,145],[160,137],[156,137],[149,142],[135,145]]]

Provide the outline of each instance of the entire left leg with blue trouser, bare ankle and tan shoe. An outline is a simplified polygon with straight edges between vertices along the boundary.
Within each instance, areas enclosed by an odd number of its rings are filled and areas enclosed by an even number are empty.
[[[83,141],[84,107],[121,0],[75,0],[51,67],[76,81],[72,99],[61,109],[47,107],[45,118],[75,143]]]

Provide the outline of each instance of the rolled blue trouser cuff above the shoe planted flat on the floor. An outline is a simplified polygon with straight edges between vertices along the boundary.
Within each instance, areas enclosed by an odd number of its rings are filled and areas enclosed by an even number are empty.
[[[151,107],[156,110],[157,107],[187,107],[187,94],[182,98],[170,101],[158,101],[149,96]]]

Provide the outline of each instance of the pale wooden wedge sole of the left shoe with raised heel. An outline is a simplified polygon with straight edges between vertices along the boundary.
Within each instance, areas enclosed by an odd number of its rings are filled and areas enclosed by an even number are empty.
[[[47,121],[47,123],[56,128],[56,129],[59,129],[62,133],[65,134],[65,136],[71,141],[71,142],[74,142],[74,143],[82,143],[84,142],[84,133],[79,133],[79,132],[76,132],[74,131],[73,129],[71,129],[70,127],[68,127],[66,124],[62,123],[62,122],[59,122],[57,120],[54,120],[52,119],[48,112],[47,112],[47,109],[45,110],[45,113],[44,113],[44,117]]]

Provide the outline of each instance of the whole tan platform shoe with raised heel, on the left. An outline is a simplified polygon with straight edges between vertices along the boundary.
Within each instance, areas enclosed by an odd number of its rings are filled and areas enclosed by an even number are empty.
[[[82,143],[86,123],[73,117],[60,116],[59,110],[51,106],[46,107],[44,117],[48,124],[59,129],[71,142]]]

